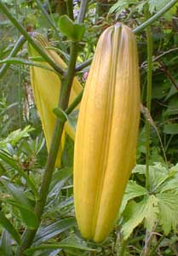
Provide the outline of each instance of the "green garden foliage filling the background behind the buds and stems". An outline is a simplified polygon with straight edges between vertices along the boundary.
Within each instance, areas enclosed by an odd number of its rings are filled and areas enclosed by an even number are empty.
[[[1,1],[27,32],[43,33],[66,62],[70,40],[60,32],[58,21],[61,15],[69,14],[68,2]],[[118,21],[135,29],[169,2],[89,1],[77,66],[92,58],[107,26]],[[72,3],[77,20],[81,1]],[[11,256],[19,255],[26,227],[37,227],[33,209],[47,149],[32,96],[26,44],[12,59],[20,32],[1,7],[0,25],[0,255]],[[26,250],[28,255],[178,255],[178,3],[136,33],[136,38],[142,102],[137,166],[114,230],[100,244],[83,241],[80,236],[72,199],[73,142],[66,137],[61,168],[53,174],[42,222],[31,249]],[[78,72],[83,87],[89,72],[87,63]],[[149,80],[152,86],[147,87]],[[76,125],[75,115],[71,118]]]

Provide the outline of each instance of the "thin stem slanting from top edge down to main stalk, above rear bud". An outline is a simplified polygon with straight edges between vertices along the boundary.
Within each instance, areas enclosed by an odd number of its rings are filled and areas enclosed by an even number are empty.
[[[46,18],[46,20],[49,22],[49,25],[52,26],[55,30],[56,36],[58,38],[58,43],[60,45],[60,48],[63,51],[66,51],[66,46],[64,44],[62,44],[61,42],[61,38],[60,38],[60,34],[59,34],[59,30],[57,28],[57,26],[55,26],[55,22],[51,19],[50,15],[47,13],[47,11],[43,8],[43,4],[41,3],[41,1],[36,0],[37,6],[38,8],[41,10],[41,12],[43,13],[43,16]]]

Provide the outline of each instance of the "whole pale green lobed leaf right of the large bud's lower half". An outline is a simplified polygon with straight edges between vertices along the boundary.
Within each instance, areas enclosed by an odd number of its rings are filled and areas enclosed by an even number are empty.
[[[136,166],[134,174],[146,175],[146,166]],[[177,166],[167,170],[160,163],[149,166],[149,184],[146,191],[134,181],[128,183],[123,196],[123,238],[128,239],[135,227],[144,223],[146,230],[152,231],[161,225],[167,236],[178,225],[178,172]]]

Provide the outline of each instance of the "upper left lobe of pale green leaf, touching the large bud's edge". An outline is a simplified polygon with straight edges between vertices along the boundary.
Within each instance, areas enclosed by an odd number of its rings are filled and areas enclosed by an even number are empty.
[[[135,183],[135,181],[130,180],[123,195],[123,201],[119,210],[119,215],[123,212],[129,200],[146,194],[148,194],[147,189],[141,187],[140,185]]]

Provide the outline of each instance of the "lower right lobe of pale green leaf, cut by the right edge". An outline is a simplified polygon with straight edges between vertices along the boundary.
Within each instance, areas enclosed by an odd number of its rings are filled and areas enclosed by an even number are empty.
[[[178,193],[173,191],[157,195],[160,224],[165,235],[171,230],[177,230],[178,225]]]

